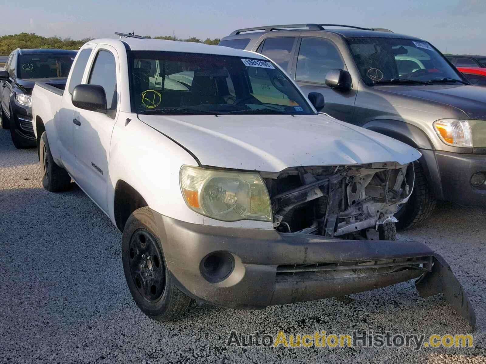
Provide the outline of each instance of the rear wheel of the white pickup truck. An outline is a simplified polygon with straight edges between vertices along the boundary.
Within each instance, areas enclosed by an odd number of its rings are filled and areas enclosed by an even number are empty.
[[[47,133],[43,132],[39,143],[40,167],[44,174],[42,185],[51,192],[67,191],[71,186],[71,177],[66,169],[56,165],[52,158],[51,149],[47,141]]]

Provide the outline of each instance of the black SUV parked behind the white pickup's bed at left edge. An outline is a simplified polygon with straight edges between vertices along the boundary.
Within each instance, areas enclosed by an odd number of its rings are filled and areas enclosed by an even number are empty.
[[[17,149],[36,145],[31,93],[36,81],[64,88],[76,50],[14,50],[0,71],[0,121]]]

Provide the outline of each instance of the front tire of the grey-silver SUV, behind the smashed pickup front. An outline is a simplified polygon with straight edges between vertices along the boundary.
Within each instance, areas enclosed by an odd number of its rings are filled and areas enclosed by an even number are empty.
[[[397,230],[415,228],[434,212],[436,200],[420,162],[414,162],[415,186],[412,196],[395,214]]]

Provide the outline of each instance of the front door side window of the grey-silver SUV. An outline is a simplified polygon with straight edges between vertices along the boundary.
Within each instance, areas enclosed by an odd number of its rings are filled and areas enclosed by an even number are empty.
[[[344,68],[344,62],[334,44],[320,38],[302,39],[295,80],[324,83],[326,74],[333,68]]]

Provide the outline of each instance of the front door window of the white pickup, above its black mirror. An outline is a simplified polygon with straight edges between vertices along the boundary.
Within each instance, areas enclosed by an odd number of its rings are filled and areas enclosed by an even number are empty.
[[[103,86],[106,94],[106,108],[116,110],[117,108],[117,69],[115,57],[107,50],[100,50],[96,55],[89,84]]]

